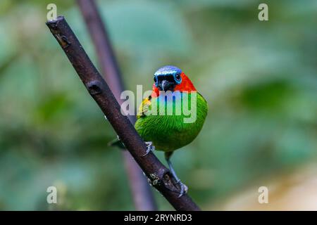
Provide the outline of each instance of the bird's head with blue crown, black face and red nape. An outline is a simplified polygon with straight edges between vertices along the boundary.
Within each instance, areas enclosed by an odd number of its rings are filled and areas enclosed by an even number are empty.
[[[196,91],[194,84],[180,68],[166,65],[154,73],[153,92],[159,96],[159,91]]]

